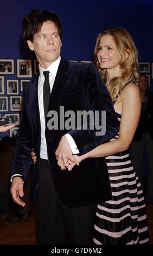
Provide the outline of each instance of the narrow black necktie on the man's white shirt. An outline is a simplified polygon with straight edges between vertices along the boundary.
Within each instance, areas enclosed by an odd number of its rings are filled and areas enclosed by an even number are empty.
[[[44,119],[47,120],[47,111],[50,98],[50,84],[49,84],[49,71],[43,71],[44,84],[43,84],[43,107],[44,107]]]

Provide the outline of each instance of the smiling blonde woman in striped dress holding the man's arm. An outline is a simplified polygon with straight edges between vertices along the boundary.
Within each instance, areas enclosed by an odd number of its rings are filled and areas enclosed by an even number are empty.
[[[110,142],[86,155],[75,156],[78,162],[87,157],[105,157],[109,170],[112,200],[98,204],[94,243],[148,243],[143,191],[127,151],[141,113],[137,49],[131,35],[124,28],[100,33],[95,45],[95,63],[112,97],[120,126],[118,135]],[[70,161],[65,163],[68,170],[73,166]]]

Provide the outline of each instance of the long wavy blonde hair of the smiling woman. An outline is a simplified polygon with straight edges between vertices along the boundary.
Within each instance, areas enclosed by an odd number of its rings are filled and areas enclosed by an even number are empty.
[[[101,36],[111,35],[122,59],[119,63],[120,70],[122,72],[121,77],[113,77],[109,84],[106,84],[107,89],[111,95],[112,100],[117,100],[119,94],[122,95],[122,90],[125,84],[128,82],[134,82],[138,84],[139,72],[138,72],[138,51],[135,43],[132,40],[129,32],[124,28],[116,27],[105,29],[97,36],[97,41],[94,51],[94,60],[97,65],[101,78],[106,82],[106,69],[101,69],[98,61],[97,53]],[[127,54],[128,57],[126,57]]]

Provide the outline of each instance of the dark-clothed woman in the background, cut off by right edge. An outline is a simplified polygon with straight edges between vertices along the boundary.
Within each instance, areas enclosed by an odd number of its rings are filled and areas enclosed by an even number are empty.
[[[143,159],[144,155],[146,156],[148,174],[146,200],[153,203],[153,93],[150,92],[147,77],[143,73],[141,73],[138,86],[141,93],[142,109],[130,146],[130,154],[133,167],[141,183],[143,183]]]

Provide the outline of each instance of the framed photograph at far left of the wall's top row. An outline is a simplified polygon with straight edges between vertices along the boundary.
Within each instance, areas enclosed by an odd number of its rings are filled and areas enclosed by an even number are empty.
[[[0,59],[0,74],[14,74],[14,59]]]

